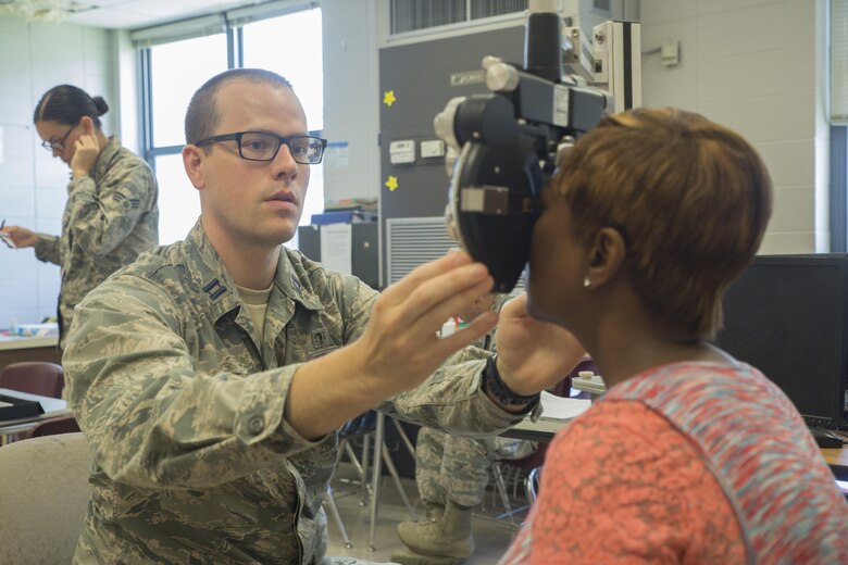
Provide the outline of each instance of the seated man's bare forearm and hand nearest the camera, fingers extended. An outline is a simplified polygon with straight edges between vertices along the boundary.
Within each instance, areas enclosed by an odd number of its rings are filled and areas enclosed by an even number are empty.
[[[437,335],[446,319],[485,297],[492,285],[485,265],[464,252],[417,267],[377,298],[357,341],[298,369],[286,419],[314,439],[416,387],[451,353],[495,327],[497,314],[484,312],[448,337]]]

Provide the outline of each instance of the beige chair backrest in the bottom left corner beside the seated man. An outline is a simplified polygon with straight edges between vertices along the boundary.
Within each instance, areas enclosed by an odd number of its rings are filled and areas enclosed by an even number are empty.
[[[0,448],[0,563],[71,563],[91,494],[82,434]]]

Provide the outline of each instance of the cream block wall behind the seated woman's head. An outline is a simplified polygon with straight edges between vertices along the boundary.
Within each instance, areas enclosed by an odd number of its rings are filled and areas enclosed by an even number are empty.
[[[641,0],[643,104],[700,112],[751,141],[775,187],[761,253],[828,250],[824,0]]]

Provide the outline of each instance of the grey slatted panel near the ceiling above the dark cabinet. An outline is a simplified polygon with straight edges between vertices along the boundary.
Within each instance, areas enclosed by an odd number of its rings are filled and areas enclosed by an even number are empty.
[[[527,9],[527,0],[391,0],[391,35],[461,24]]]

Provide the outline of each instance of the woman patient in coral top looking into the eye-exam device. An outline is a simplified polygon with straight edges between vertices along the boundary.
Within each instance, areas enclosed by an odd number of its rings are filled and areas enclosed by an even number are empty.
[[[751,146],[689,112],[615,114],[544,201],[527,310],[608,392],[554,438],[501,563],[848,563],[848,504],[803,419],[709,342],[771,214]]]

